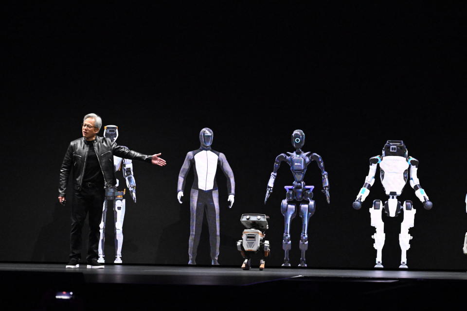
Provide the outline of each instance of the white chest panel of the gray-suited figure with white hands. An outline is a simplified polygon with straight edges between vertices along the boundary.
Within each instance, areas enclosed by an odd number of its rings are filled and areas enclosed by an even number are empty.
[[[217,158],[218,156],[210,150],[202,150],[195,155],[198,189],[213,189],[217,170]]]

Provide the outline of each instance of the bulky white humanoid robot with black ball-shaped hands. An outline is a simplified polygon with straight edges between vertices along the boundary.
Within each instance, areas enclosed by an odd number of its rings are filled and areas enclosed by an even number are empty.
[[[425,190],[420,186],[417,178],[418,160],[408,156],[407,148],[402,140],[388,140],[384,145],[382,155],[370,158],[370,171],[366,176],[365,183],[357,195],[357,200],[352,204],[355,209],[361,208],[361,202],[370,193],[370,187],[375,182],[376,169],[379,164],[379,176],[386,195],[389,199],[384,203],[381,200],[373,201],[373,207],[370,208],[371,225],[376,227],[376,233],[372,236],[375,239],[373,246],[377,250],[375,268],[382,268],[381,256],[384,246],[385,233],[382,220],[382,211],[384,209],[389,217],[398,216],[403,210],[403,220],[400,225],[399,245],[401,249],[401,262],[399,268],[407,267],[407,250],[410,248],[412,236],[409,234],[409,228],[413,227],[415,217],[415,208],[412,201],[404,201],[401,204],[397,196],[402,194],[407,180],[410,180],[410,186],[415,190],[415,195],[423,203],[425,209],[431,209],[433,204],[429,201]]]

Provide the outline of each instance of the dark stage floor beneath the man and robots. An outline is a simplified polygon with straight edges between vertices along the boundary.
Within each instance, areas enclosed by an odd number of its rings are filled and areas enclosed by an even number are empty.
[[[149,308],[170,304],[175,309],[186,309],[190,306],[215,308],[221,303],[222,309],[243,309],[255,301],[269,306],[308,305],[311,308],[324,305],[339,310],[353,305],[361,310],[374,309],[374,303],[380,304],[381,309],[409,309],[410,306],[465,304],[467,299],[466,272],[297,268],[243,271],[232,267],[143,265],[83,267],[66,269],[64,264],[0,263],[1,281],[7,286],[2,292],[3,306],[90,310],[93,307]],[[55,294],[62,291],[72,291],[74,299],[55,299]]]

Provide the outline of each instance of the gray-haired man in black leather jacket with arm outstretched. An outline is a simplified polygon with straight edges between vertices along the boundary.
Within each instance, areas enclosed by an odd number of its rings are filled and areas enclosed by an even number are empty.
[[[59,173],[58,201],[65,205],[66,189],[70,171],[73,171],[72,228],[70,232],[70,262],[67,268],[78,268],[81,259],[81,230],[89,212],[88,268],[104,268],[97,262],[99,224],[105,190],[116,184],[113,155],[131,160],[140,160],[159,166],[166,164],[157,155],[143,155],[117,145],[109,138],[98,137],[101,118],[90,113],[81,126],[83,138],[73,140],[68,146]]]

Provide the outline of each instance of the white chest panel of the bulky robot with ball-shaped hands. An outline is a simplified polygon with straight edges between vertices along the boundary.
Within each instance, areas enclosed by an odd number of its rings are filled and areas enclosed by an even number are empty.
[[[403,156],[388,155],[383,157],[381,163],[379,163],[379,169],[382,170],[381,184],[383,184],[387,195],[389,195],[389,192],[396,192],[397,195],[401,194],[407,182],[408,168],[409,163]]]

